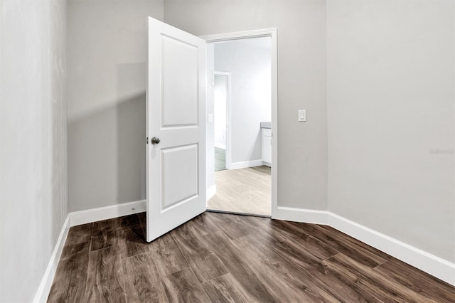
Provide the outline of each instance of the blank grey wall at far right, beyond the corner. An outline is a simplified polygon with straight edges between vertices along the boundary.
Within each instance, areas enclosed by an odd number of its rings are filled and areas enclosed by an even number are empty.
[[[327,1],[329,211],[455,261],[454,1]]]

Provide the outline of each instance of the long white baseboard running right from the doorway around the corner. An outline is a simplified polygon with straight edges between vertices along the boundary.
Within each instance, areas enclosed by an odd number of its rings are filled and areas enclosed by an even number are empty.
[[[278,207],[274,219],[330,225],[351,237],[377,248],[419,270],[455,286],[455,264],[414,248],[412,245],[379,233],[330,211]]]

